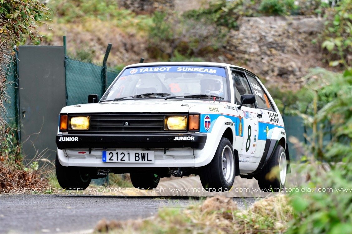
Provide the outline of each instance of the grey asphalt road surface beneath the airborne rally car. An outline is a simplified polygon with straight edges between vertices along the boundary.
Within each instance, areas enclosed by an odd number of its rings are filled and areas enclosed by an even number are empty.
[[[254,198],[234,198],[240,208]],[[0,195],[0,233],[90,233],[99,220],[128,220],[155,215],[160,207],[185,207],[188,197],[93,195]]]

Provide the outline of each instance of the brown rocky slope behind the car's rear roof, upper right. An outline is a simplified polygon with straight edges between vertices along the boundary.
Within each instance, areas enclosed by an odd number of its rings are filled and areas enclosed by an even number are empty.
[[[325,66],[320,46],[312,43],[323,30],[321,18],[252,17],[239,26],[225,51],[269,84],[298,87],[309,68]]]

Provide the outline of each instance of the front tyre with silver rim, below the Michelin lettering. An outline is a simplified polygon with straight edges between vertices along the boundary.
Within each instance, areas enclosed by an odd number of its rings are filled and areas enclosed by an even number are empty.
[[[231,142],[222,137],[213,160],[200,168],[203,188],[230,189],[235,179],[235,157]]]

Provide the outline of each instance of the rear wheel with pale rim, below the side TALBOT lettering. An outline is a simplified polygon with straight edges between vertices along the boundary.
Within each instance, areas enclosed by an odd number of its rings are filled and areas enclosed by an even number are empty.
[[[285,187],[287,160],[285,150],[278,145],[268,164],[258,175],[258,185],[264,192],[279,192]]]

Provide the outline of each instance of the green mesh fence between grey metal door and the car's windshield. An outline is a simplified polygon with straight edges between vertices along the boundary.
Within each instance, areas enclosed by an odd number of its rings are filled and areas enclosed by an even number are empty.
[[[66,58],[66,91],[67,105],[88,103],[89,94],[102,95],[105,86],[102,79],[102,66]],[[119,71],[107,69],[107,86],[109,86]]]

